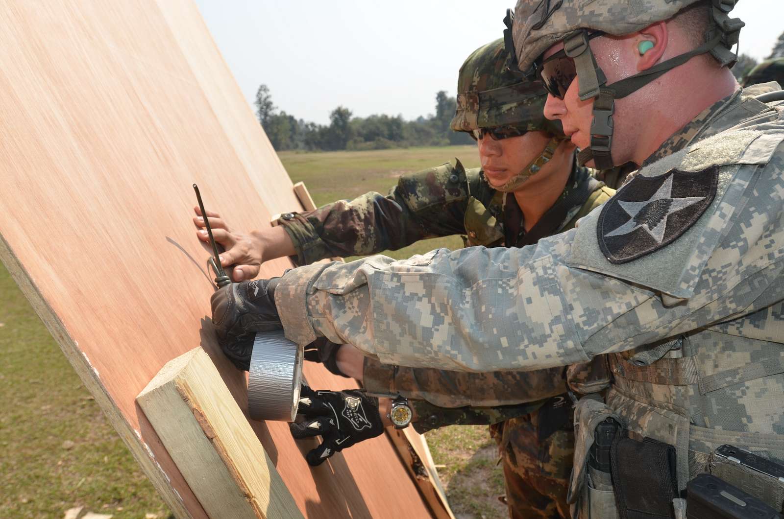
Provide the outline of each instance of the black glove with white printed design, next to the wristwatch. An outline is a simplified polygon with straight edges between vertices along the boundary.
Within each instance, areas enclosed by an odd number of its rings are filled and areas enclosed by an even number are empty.
[[[321,436],[321,445],[305,455],[310,466],[318,466],[337,451],[383,433],[379,399],[364,390],[314,391],[303,384],[299,393],[302,423],[289,428],[296,439]]]

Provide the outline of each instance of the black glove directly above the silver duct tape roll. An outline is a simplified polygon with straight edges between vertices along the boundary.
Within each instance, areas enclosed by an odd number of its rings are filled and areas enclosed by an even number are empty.
[[[250,369],[256,332],[283,328],[275,308],[276,285],[278,278],[231,283],[209,299],[220,348],[239,369]]]

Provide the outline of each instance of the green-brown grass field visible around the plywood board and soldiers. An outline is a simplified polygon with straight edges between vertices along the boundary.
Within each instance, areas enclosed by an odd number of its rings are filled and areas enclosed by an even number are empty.
[[[317,205],[367,191],[386,193],[397,176],[457,157],[477,165],[474,147],[281,153],[294,182]],[[188,215],[183,215],[188,219]],[[403,258],[459,238],[421,242]],[[63,517],[85,506],[114,517],[168,517],[169,511],[82,386],[27,299],[0,265],[0,517]],[[504,517],[503,477],[485,426],[427,434],[458,517]]]

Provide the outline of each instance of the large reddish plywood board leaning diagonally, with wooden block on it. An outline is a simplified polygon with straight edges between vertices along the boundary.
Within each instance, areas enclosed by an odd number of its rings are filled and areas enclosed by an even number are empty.
[[[292,184],[192,2],[0,6],[0,258],[175,514],[206,517],[134,398],[201,346],[245,411],[209,320],[191,184],[245,229],[299,207]],[[427,516],[386,438],[311,469],[285,423],[251,426],[307,517]]]

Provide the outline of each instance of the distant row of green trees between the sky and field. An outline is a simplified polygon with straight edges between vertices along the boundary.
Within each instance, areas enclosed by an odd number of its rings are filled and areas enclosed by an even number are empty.
[[[317,125],[278,111],[267,85],[260,85],[254,104],[256,118],[276,151],[384,150],[474,143],[466,133],[449,129],[457,104],[444,90],[436,93],[435,114],[413,121],[387,114],[354,117],[347,107],[339,106],[329,114],[328,125]]]

